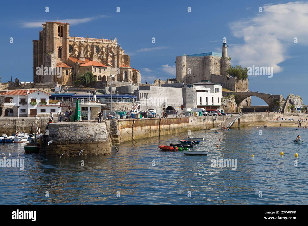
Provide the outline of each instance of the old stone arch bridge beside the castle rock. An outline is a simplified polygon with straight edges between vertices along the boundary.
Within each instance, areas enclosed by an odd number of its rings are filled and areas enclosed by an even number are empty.
[[[223,95],[235,95],[235,102],[237,104],[237,112],[240,110],[239,106],[243,100],[247,97],[255,96],[264,100],[271,111],[283,111],[286,112],[289,100],[286,100],[280,94],[272,95],[267,93],[258,92],[222,92]]]

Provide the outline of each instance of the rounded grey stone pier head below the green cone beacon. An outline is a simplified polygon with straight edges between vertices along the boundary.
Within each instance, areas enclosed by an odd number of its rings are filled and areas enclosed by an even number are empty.
[[[48,140],[53,142],[47,146],[46,155],[79,156],[109,155],[111,143],[104,123],[65,122],[49,125]]]

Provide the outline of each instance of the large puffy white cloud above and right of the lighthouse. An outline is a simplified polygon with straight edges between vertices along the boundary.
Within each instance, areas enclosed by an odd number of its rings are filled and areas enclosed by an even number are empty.
[[[288,47],[307,45],[308,3],[268,4],[262,11],[254,18],[231,24],[234,36],[245,43],[229,45],[229,55],[242,66],[273,66],[278,73],[282,71],[278,64],[289,58]]]

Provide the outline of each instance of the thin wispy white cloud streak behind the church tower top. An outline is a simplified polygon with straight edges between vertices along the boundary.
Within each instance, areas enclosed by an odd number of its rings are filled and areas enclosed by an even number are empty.
[[[99,15],[95,17],[85,17],[85,18],[80,18],[80,19],[59,19],[59,22],[62,23],[69,23],[70,25],[76,25],[80,23],[87,23],[92,20],[96,20],[99,18],[107,18],[109,16],[105,15]],[[27,28],[35,28],[35,27],[42,27],[42,24],[48,21],[55,21],[55,20],[42,20],[42,21],[36,21],[36,22],[21,22],[22,27],[27,27]]]

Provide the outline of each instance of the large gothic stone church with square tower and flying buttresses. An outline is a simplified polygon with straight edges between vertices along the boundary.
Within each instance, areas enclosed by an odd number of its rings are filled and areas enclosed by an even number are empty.
[[[38,73],[37,67],[62,68],[62,76]],[[57,82],[74,85],[79,73],[90,71],[97,81],[141,83],[140,71],[130,65],[117,39],[79,38],[69,36],[69,24],[46,22],[33,40],[33,82]],[[119,73],[120,72],[120,73]]]

